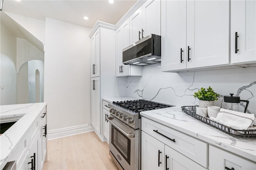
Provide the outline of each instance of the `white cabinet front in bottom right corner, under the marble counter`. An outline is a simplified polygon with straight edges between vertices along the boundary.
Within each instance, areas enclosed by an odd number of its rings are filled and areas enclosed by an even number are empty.
[[[256,170],[256,164],[214,146],[209,146],[209,169],[225,170],[227,168]]]

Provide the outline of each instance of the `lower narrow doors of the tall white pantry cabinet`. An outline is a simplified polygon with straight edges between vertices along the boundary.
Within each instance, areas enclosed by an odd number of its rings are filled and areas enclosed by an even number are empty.
[[[100,134],[100,77],[91,79],[92,126]]]

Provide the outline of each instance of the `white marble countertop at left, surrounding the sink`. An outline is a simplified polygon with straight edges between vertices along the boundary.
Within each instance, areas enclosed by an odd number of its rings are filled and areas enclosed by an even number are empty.
[[[0,119],[23,116],[12,127],[0,136],[0,169],[10,161],[22,138],[30,129],[31,124],[40,116],[40,112],[46,103],[26,103],[18,105],[0,106]]]

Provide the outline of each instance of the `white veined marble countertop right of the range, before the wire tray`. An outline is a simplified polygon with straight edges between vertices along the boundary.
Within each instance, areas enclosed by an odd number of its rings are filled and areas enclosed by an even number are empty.
[[[183,113],[181,107],[144,111],[140,115],[256,162],[256,137],[229,135]]]

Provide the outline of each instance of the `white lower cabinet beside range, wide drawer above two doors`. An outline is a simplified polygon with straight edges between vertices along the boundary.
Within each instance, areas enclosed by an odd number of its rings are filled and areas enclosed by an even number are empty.
[[[142,170],[206,170],[207,144],[142,117]]]

